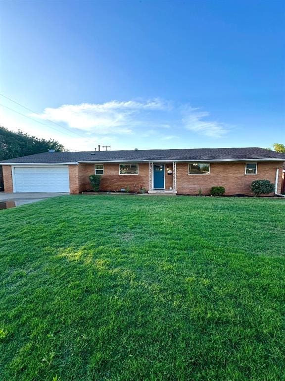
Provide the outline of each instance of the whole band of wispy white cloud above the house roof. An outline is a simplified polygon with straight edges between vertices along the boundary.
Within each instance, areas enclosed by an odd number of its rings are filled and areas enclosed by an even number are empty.
[[[147,101],[116,100],[106,103],[82,103],[46,108],[41,115],[32,114],[38,120],[65,124],[73,131],[81,130],[86,136],[119,136],[140,134],[141,137],[156,135],[172,128],[164,140],[177,137],[179,130],[190,130],[211,138],[223,136],[228,128],[225,124],[207,120],[209,113],[190,105],[175,105],[159,98]],[[182,134],[184,133],[181,131]]]

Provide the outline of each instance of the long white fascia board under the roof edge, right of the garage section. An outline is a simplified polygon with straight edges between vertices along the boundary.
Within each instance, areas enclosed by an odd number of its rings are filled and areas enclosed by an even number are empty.
[[[78,163],[192,163],[192,162],[205,162],[205,163],[219,163],[219,162],[245,162],[245,161],[253,161],[253,162],[268,162],[268,161],[284,161],[284,159],[216,159],[216,160],[204,160],[204,159],[188,159],[188,160],[174,160],[174,159],[161,159],[161,160],[86,160],[79,161]]]

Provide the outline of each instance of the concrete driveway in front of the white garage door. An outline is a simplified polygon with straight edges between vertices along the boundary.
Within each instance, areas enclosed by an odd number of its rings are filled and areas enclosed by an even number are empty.
[[[15,206],[30,204],[50,197],[63,196],[69,193],[46,193],[46,192],[21,192],[5,193],[0,192],[0,209],[8,209]]]

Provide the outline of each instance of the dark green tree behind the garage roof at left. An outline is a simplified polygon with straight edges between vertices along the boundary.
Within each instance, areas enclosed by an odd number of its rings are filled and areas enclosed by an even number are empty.
[[[47,152],[49,149],[54,149],[56,152],[66,151],[64,146],[54,139],[46,140],[30,136],[20,130],[9,131],[0,126],[0,160]]]

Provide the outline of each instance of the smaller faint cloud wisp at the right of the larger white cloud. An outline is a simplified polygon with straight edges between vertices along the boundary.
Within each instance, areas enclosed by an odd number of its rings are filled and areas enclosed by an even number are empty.
[[[187,129],[210,137],[221,137],[227,132],[224,124],[205,120],[209,113],[198,110],[190,106],[184,108],[182,121]]]

